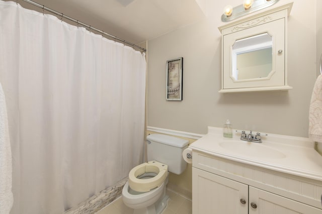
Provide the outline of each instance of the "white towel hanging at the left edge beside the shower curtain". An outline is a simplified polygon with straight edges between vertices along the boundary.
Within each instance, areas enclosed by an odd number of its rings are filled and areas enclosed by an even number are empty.
[[[12,208],[12,156],[8,128],[6,98],[0,83],[0,214]]]

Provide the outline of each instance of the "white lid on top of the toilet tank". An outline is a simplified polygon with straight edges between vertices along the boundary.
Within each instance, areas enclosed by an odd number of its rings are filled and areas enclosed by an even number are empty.
[[[169,135],[162,135],[162,134],[150,134],[146,137],[146,140],[163,143],[163,144],[167,144],[167,145],[175,146],[179,148],[183,148],[187,146],[189,143],[188,140],[169,136]]]

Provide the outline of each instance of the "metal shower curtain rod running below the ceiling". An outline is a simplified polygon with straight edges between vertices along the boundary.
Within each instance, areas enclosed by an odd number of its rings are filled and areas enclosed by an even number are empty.
[[[137,46],[137,45],[135,45],[135,44],[133,44],[133,43],[130,43],[130,42],[126,41],[126,40],[120,39],[120,38],[118,38],[118,37],[116,37],[116,36],[113,36],[113,35],[111,35],[111,34],[105,33],[104,31],[101,31],[101,30],[99,30],[99,29],[97,29],[97,28],[93,28],[91,25],[87,25],[87,24],[85,24],[85,23],[83,23],[83,22],[79,22],[78,20],[75,20],[75,19],[73,19],[73,18],[71,18],[71,17],[68,17],[68,16],[66,16],[66,15],[64,15],[64,14],[62,14],[62,13],[59,13],[59,12],[57,12],[57,11],[54,11],[54,10],[52,10],[52,9],[50,9],[50,8],[46,8],[45,6],[40,5],[40,4],[38,4],[38,3],[35,3],[35,2],[33,2],[33,1],[31,1],[31,0],[23,0],[23,1],[24,1],[24,2],[27,2],[27,3],[31,4],[31,5],[37,6],[38,8],[41,8],[42,10],[46,10],[46,11],[49,11],[50,13],[56,14],[57,16],[60,16],[60,17],[61,17],[61,19],[62,19],[62,18],[64,18],[64,19],[70,20],[70,21],[72,21],[72,22],[74,22],[74,23],[77,23],[77,26],[78,26],[78,25],[82,25],[82,26],[84,26],[84,27],[86,27],[86,28],[90,29],[90,31],[91,31],[91,30],[94,30],[94,31],[99,32],[100,34],[102,34],[102,36],[103,36],[103,34],[104,34],[104,35],[106,35],[106,36],[108,36],[108,37],[111,37],[111,38],[113,38],[113,39],[115,39],[115,40],[118,40],[118,41],[122,42],[124,45],[125,45],[125,44],[128,44],[129,46],[131,46],[131,47],[133,47],[133,48],[134,48],[134,47],[136,47],[136,48],[140,49],[141,51],[146,52],[146,49],[145,49],[145,48],[142,48],[142,47],[140,47],[140,46]],[[19,3],[19,0],[16,0],[16,2],[17,2],[17,4],[18,4],[18,3]]]

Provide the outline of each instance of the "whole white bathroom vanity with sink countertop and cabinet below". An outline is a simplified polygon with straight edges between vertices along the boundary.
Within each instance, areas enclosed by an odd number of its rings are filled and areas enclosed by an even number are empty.
[[[269,134],[254,143],[233,135],[208,127],[189,146],[194,214],[322,213],[322,157],[312,141]]]

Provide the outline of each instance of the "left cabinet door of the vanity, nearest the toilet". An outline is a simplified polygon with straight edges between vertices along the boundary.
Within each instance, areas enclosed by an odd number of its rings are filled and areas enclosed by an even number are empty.
[[[193,214],[247,214],[248,185],[192,168]]]

